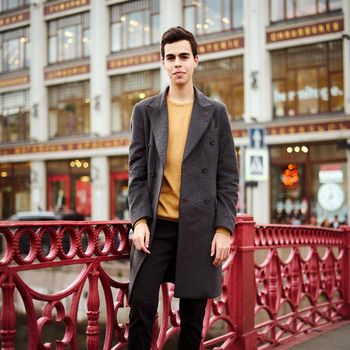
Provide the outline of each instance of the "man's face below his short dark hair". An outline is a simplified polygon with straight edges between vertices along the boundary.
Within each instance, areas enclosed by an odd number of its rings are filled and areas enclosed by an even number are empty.
[[[192,84],[193,72],[198,65],[198,56],[193,57],[189,41],[181,40],[164,46],[162,63],[170,78],[170,84],[183,86]]]

